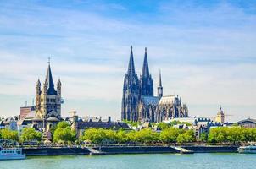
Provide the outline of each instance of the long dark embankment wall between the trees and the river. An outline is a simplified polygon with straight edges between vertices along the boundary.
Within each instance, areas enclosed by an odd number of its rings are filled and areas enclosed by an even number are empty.
[[[93,150],[103,152],[106,155],[118,154],[164,154],[164,153],[181,153],[175,146],[95,146],[90,149],[70,148],[70,147],[39,147],[24,148],[23,152],[27,156],[40,155],[90,155]],[[236,145],[181,145],[178,148],[191,150],[194,153],[237,153]]]

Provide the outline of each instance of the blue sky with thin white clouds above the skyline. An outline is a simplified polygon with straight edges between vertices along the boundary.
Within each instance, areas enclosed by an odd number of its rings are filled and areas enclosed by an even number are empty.
[[[32,104],[36,81],[62,81],[62,115],[120,119],[133,46],[144,47],[154,90],[179,95],[189,115],[256,118],[256,2],[0,0],[0,117]]]

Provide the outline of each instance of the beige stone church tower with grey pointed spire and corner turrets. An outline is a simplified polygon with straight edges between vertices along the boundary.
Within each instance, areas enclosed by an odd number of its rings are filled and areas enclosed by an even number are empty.
[[[61,120],[61,82],[58,79],[55,90],[53,75],[48,62],[46,79],[42,85],[38,79],[36,82],[36,115],[33,124],[38,129],[47,129],[56,125]]]

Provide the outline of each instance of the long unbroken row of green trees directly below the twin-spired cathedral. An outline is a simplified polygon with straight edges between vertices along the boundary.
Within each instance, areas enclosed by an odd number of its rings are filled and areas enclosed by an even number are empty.
[[[195,141],[192,130],[178,128],[165,128],[157,133],[152,129],[142,129],[140,131],[109,130],[103,128],[86,129],[81,140],[86,140],[92,144],[128,144],[128,143],[189,143]]]

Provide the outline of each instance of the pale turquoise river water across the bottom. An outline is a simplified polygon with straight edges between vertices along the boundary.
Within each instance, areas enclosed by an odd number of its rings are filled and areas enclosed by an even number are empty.
[[[256,168],[256,154],[205,153],[193,155],[41,156],[24,161],[0,161],[0,169],[156,169],[156,168]]]

